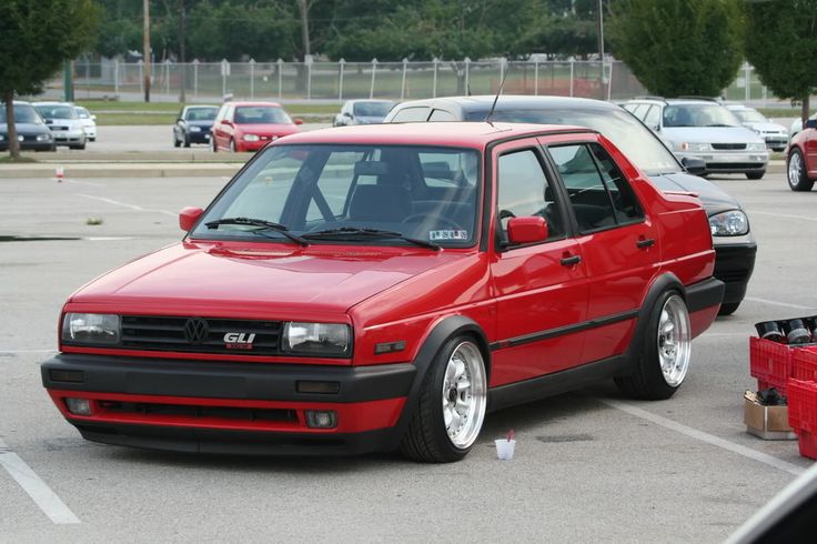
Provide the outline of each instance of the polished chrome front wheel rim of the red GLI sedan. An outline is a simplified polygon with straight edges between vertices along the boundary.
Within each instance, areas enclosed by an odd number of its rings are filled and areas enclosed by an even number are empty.
[[[443,375],[443,419],[448,440],[461,450],[480,435],[487,405],[485,363],[476,344],[460,343]]]

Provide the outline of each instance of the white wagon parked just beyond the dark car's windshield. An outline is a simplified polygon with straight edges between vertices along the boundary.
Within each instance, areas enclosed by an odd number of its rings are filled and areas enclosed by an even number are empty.
[[[766,142],[716,100],[639,98],[623,104],[654,130],[682,161],[700,159],[704,174],[766,174]]]

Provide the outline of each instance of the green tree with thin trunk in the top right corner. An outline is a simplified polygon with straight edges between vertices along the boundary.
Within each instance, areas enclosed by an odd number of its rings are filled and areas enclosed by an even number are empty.
[[[817,89],[817,0],[744,4],[746,59],[780,98],[799,100],[806,122]]]

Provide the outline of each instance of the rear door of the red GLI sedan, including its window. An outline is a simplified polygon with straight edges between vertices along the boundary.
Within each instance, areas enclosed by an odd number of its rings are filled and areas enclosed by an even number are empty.
[[[587,273],[591,326],[582,361],[601,361],[629,345],[659,265],[658,231],[599,142],[553,143],[547,151],[569,195]]]

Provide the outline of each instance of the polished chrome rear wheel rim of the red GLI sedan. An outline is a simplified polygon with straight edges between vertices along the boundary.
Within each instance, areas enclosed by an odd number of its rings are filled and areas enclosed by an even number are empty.
[[[658,362],[664,381],[677,387],[689,369],[692,334],[684,299],[674,294],[664,303],[658,319]]]

